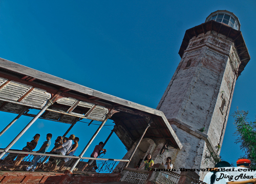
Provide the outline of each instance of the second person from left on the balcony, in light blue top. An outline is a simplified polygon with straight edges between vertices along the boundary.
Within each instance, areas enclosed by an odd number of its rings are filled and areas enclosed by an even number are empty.
[[[51,145],[51,139],[52,139],[52,134],[48,133],[46,135],[46,141],[44,142],[44,144],[42,144],[41,148],[37,151],[37,153],[46,153],[46,151],[48,150],[48,148]],[[31,164],[25,170],[29,171],[30,169],[32,169],[31,171],[34,172],[34,170],[37,166],[37,162],[41,157],[42,157],[42,155],[35,155]]]

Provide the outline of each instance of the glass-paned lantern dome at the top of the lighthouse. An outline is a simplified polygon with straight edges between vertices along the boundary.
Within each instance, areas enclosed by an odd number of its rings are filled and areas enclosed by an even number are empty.
[[[214,13],[211,13],[206,21],[215,20],[230,26],[233,29],[240,30],[240,22],[236,15],[226,10],[218,10]],[[205,21],[205,22],[206,22]]]

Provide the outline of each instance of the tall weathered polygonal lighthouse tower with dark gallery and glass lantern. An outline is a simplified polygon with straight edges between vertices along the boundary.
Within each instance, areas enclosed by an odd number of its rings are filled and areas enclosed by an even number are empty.
[[[183,145],[175,167],[206,168],[205,154],[218,158],[234,86],[250,60],[238,17],[226,10],[211,13],[203,24],[186,30],[179,55],[157,109]]]

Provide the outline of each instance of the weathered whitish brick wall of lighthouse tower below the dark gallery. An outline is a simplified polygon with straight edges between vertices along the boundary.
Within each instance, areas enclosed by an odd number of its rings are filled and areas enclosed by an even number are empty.
[[[168,120],[182,122],[183,127],[204,128],[203,133],[216,149],[222,145],[239,62],[236,49],[226,36],[207,32],[193,37],[157,109]],[[226,105],[220,110],[223,99]],[[183,145],[176,155],[175,167],[205,168],[205,140],[195,136],[195,131],[184,131],[175,124],[172,127]]]

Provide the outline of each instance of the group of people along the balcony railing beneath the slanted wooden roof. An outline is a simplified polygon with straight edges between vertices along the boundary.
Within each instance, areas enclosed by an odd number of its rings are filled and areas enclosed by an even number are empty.
[[[22,150],[24,152],[32,152],[36,148],[39,138],[40,138],[40,134],[37,133],[33,137],[32,141],[27,142],[27,145]],[[51,146],[51,139],[52,139],[52,134],[48,133],[46,135],[46,141],[41,145],[40,149],[36,151],[36,153],[46,153],[49,147]],[[78,142],[79,142],[79,138],[76,137],[74,134],[71,134],[69,137],[58,136],[54,142],[54,147],[50,151],[50,154],[73,156],[78,148]],[[102,148],[103,145],[104,145],[103,142],[100,142],[99,145],[96,145],[93,153],[91,154],[91,157],[97,158],[101,153],[105,153],[106,149]],[[10,166],[10,169],[11,170],[17,169],[20,163],[22,163],[23,159],[28,154],[18,154],[13,166]],[[42,155],[34,155],[32,162],[27,168],[24,169],[24,171],[33,172],[36,168],[38,168],[38,160],[40,160],[41,157]],[[8,157],[6,159],[8,159]],[[71,159],[72,158],[68,158],[68,157],[46,156],[44,160],[40,160],[39,166],[42,166],[42,164],[46,163],[44,164],[44,166],[41,167],[42,170],[53,171],[56,168],[56,166],[59,166],[58,171],[61,171],[65,167],[66,163]],[[10,160],[5,160],[5,162],[8,162],[8,161]],[[81,171],[89,170],[89,171],[96,172],[96,169],[97,169],[96,160],[89,159],[89,161],[85,163],[85,165],[82,167]]]

